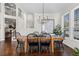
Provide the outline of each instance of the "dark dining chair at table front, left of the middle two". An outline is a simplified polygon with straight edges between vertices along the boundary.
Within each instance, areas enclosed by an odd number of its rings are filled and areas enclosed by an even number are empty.
[[[27,35],[27,42],[28,42],[28,51],[29,52],[38,52],[39,51],[39,42],[37,35],[35,33],[30,33]]]

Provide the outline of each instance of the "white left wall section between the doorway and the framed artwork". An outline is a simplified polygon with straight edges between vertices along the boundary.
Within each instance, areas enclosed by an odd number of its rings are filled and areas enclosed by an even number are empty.
[[[16,19],[16,32],[19,32],[21,35],[26,33],[26,14],[23,14],[24,19],[17,17]]]

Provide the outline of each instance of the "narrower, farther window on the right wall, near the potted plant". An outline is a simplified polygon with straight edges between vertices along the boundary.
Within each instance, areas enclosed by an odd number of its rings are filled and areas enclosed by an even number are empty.
[[[65,37],[69,37],[69,13],[64,15],[64,31]]]

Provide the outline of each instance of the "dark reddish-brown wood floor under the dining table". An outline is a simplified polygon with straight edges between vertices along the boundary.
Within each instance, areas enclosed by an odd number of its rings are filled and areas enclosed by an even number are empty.
[[[55,49],[55,52],[50,54],[48,52],[38,53],[24,53],[23,51],[16,52],[16,42],[0,42],[0,56],[72,56],[73,50],[64,45],[64,50]]]

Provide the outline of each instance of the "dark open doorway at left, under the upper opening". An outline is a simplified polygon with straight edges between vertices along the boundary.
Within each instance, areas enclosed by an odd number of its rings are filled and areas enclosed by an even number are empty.
[[[5,18],[5,42],[11,42],[16,33],[16,19]]]

